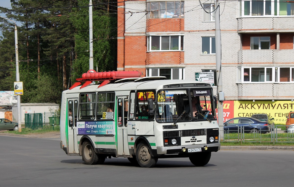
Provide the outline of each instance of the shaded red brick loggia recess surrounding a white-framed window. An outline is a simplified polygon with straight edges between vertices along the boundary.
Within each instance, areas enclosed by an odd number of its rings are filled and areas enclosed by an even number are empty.
[[[277,35],[275,33],[258,33],[258,34],[243,34],[242,35],[242,49],[250,50],[250,37],[270,37],[270,49],[276,49]]]

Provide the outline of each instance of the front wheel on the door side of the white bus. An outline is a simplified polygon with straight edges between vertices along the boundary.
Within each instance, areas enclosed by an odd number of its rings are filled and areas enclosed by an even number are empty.
[[[136,148],[136,159],[143,168],[152,168],[156,165],[158,158],[151,155],[151,150],[146,143],[139,143]]]

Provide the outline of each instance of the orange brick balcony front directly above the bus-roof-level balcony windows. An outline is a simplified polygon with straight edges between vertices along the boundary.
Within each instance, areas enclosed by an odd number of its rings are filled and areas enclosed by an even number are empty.
[[[184,52],[171,51],[171,52],[148,52],[146,64],[183,64]]]

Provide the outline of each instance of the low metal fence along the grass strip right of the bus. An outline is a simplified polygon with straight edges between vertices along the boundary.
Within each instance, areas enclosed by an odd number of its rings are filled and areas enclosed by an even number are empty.
[[[239,126],[235,130],[228,130],[225,128],[226,126],[220,126],[220,142],[271,142],[275,143],[294,143],[294,132],[282,131],[281,127],[285,127],[285,125],[271,125],[269,126],[272,129],[267,133],[260,133],[261,127],[258,126],[258,132],[248,133],[249,131],[245,131],[244,129],[247,126]],[[223,136],[222,136],[223,135]]]

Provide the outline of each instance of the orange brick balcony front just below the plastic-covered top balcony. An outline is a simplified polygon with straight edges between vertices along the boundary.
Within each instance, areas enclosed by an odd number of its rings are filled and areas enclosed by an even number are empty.
[[[151,18],[147,19],[146,32],[184,31],[184,18]]]

